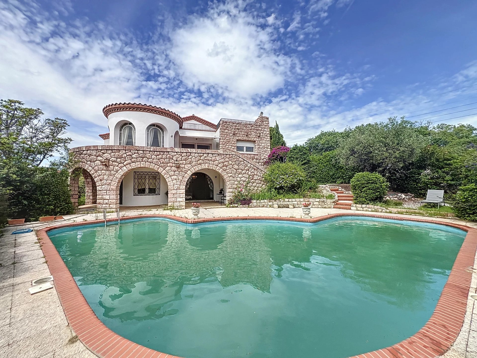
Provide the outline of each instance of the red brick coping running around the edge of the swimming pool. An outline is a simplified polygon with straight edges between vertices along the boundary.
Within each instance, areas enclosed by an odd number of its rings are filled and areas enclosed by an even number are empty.
[[[437,302],[436,309],[429,321],[414,336],[394,346],[360,354],[353,358],[433,358],[442,355],[456,340],[467,308],[467,297],[472,279],[472,270],[477,250],[477,229],[450,222],[434,221],[421,218],[403,218],[367,213],[336,213],[312,219],[283,217],[223,217],[210,219],[184,219],[172,215],[136,215],[122,220],[141,219],[147,217],[167,218],[184,223],[199,223],[228,220],[280,220],[318,222],[339,216],[367,216],[381,219],[401,221],[430,222],[452,226],[467,232],[456,261]],[[117,219],[107,219],[117,221]],[[102,358],[179,358],[141,346],[114,333],[94,314],[86,302],[72,274],[66,267],[47,232],[53,229],[102,223],[104,220],[72,222],[50,226],[37,231],[41,249],[45,255],[56,292],[63,306],[65,316],[73,332],[83,344],[98,357]],[[470,267],[470,268],[469,268]]]

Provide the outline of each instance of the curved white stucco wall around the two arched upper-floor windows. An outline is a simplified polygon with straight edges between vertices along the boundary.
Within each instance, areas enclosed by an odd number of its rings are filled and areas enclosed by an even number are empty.
[[[108,116],[108,126],[114,128],[110,133],[110,145],[119,145],[119,128],[126,122],[131,122],[135,127],[136,146],[146,145],[147,126],[157,124],[164,129],[164,147],[174,147],[174,134],[179,130],[179,124],[175,120],[153,113],[136,111],[114,112]]]

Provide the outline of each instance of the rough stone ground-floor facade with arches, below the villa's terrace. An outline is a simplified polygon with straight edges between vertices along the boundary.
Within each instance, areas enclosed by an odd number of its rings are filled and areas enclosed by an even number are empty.
[[[89,183],[86,185],[87,203],[93,203],[95,196],[98,209],[119,207],[119,186],[126,173],[134,168],[151,168],[164,176],[169,191],[168,205],[181,209],[185,208],[187,179],[201,169],[216,170],[223,177],[227,197],[237,184],[247,180],[250,180],[252,190],[260,190],[264,185],[264,167],[250,160],[249,156],[232,150],[87,146],[73,148],[71,152],[77,168],[82,168],[85,173],[85,183]],[[75,172],[72,172],[70,184],[73,203],[77,204]]]

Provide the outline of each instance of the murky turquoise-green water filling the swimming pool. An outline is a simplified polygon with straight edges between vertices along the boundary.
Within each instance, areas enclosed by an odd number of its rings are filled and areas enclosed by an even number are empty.
[[[466,235],[364,217],[48,234],[106,326],[186,358],[342,358],[397,343],[431,316]]]

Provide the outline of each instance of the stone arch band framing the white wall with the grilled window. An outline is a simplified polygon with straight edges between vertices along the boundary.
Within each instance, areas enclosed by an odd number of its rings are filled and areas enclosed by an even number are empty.
[[[168,195],[168,205],[174,205],[174,184],[173,180],[166,168],[161,167],[155,163],[151,162],[144,162],[138,161],[130,164],[126,164],[125,166],[121,167],[115,174],[114,177],[111,178],[110,184],[110,195],[107,198],[107,202],[104,202],[104,208],[107,209],[117,209],[119,208],[119,187],[121,185],[121,181],[124,179],[127,173],[135,168],[149,168],[156,170],[159,174],[161,174],[164,179],[166,179],[169,195]]]

